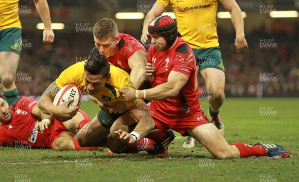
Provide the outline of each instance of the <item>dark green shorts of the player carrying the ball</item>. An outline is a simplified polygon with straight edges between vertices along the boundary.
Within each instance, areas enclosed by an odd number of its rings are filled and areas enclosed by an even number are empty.
[[[129,110],[127,110],[126,112],[128,112]],[[109,112],[106,112],[102,109],[99,110],[98,112],[98,120],[100,122],[100,124],[104,127],[109,129],[112,124],[114,123],[114,121],[116,121],[119,117],[121,117],[122,115],[124,115],[126,112],[123,113],[117,113],[117,114],[110,114]]]

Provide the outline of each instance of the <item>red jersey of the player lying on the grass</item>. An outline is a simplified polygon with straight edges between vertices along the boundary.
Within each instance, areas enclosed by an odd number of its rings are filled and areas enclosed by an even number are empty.
[[[46,146],[46,130],[40,133],[35,124],[38,117],[33,116],[32,108],[37,100],[22,96],[16,102],[10,104],[12,120],[10,123],[0,125],[0,145],[13,146],[15,148],[35,148]]]

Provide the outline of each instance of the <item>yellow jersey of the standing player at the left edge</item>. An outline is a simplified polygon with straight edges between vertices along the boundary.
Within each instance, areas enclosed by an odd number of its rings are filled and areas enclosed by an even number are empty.
[[[21,28],[18,15],[19,0],[1,0],[0,2],[0,30],[5,28]]]

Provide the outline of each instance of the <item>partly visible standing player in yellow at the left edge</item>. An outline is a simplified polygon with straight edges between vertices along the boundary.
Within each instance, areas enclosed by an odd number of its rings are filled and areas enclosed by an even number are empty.
[[[18,91],[14,76],[22,50],[21,22],[19,20],[19,0],[1,0],[0,3],[0,92],[8,104],[17,99]],[[46,0],[33,0],[36,10],[45,25],[43,42],[54,41],[49,7]]]

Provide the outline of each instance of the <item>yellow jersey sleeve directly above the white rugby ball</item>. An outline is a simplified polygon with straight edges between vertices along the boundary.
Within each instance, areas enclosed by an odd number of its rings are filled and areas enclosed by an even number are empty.
[[[67,69],[65,69],[56,79],[57,86],[61,89],[66,85],[74,84],[79,87],[81,91],[85,91],[84,83],[84,65],[87,60],[78,62]]]

